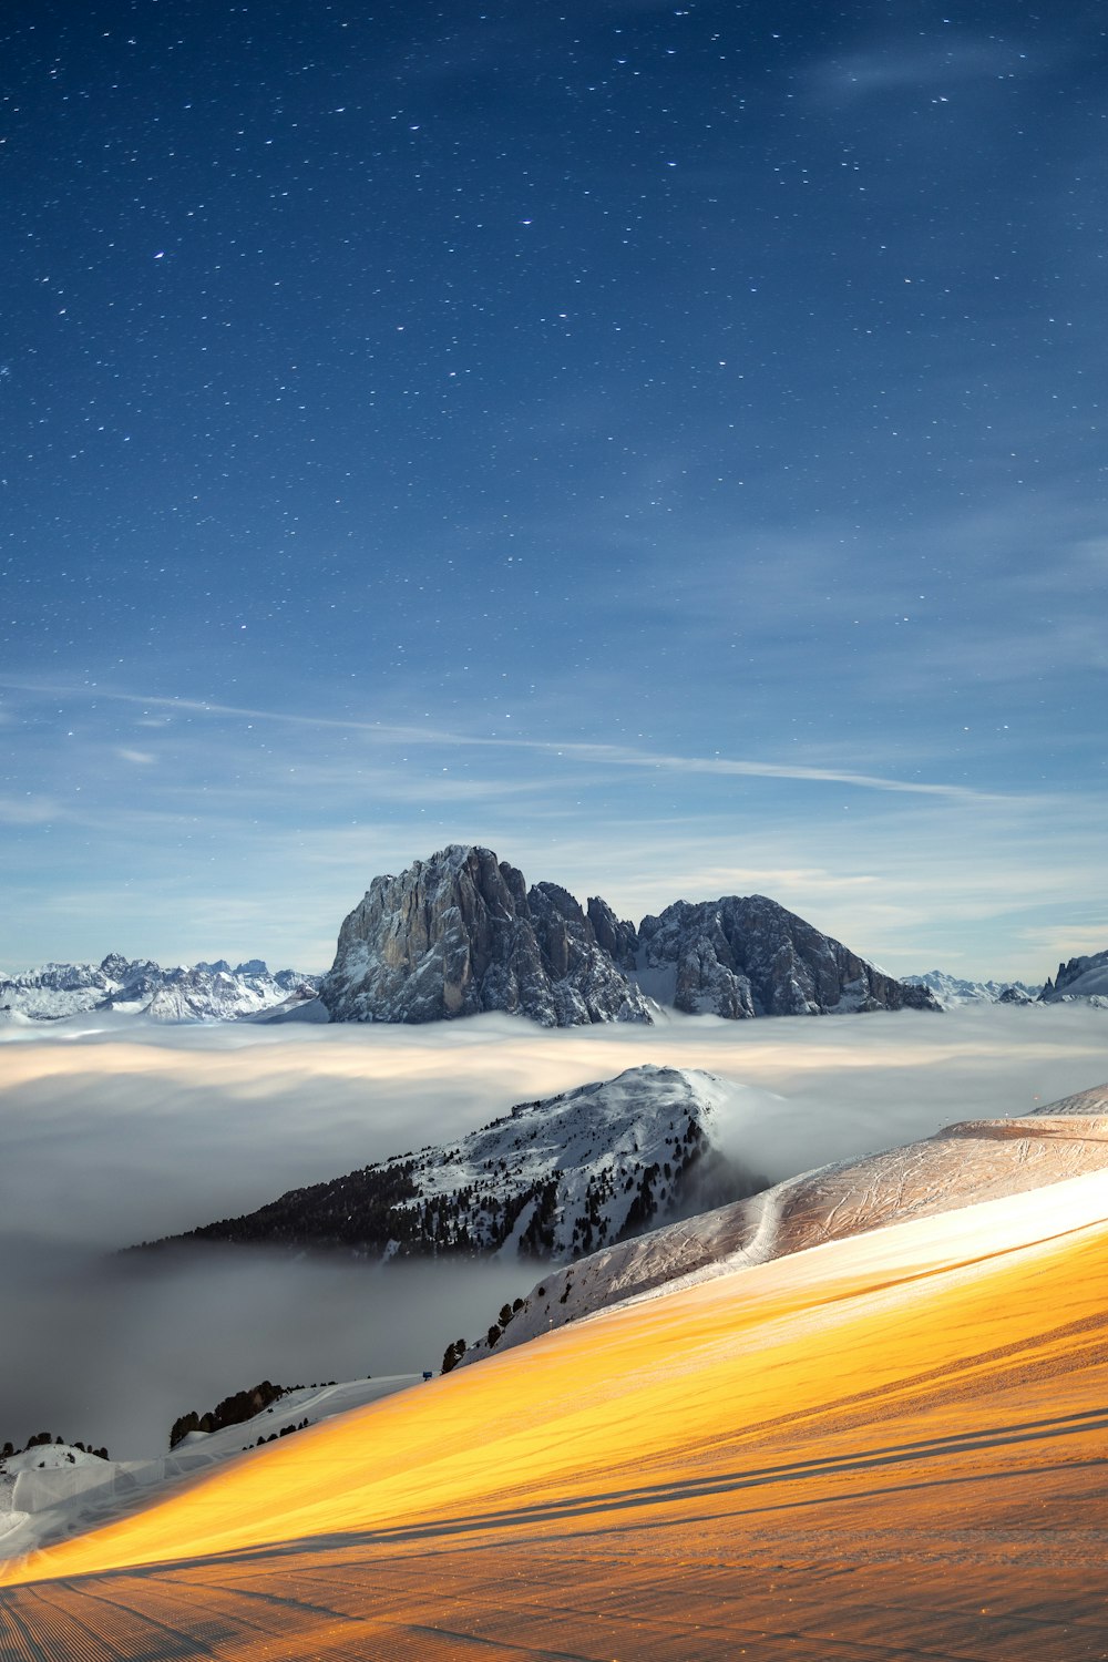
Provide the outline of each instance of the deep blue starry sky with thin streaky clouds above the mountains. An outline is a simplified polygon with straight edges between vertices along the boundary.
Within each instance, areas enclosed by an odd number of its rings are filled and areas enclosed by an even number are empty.
[[[1108,946],[1103,7],[10,0],[0,967],[450,841]]]

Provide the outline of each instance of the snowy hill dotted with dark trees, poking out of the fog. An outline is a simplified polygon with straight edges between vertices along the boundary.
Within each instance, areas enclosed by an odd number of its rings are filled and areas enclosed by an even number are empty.
[[[176,1240],[561,1261],[764,1180],[719,1153],[719,1110],[741,1095],[696,1069],[633,1067],[503,1119]]]

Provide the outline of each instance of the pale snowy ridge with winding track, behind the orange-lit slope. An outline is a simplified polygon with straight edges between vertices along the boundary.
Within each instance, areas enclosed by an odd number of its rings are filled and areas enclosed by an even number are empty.
[[[849,1235],[937,1217],[1108,1168],[1108,1085],[1010,1120],[965,1120],[924,1142],[841,1160],[749,1198],[552,1268],[498,1331],[453,1345],[478,1361],[610,1305],[729,1275]],[[492,1341],[492,1343],[490,1343]]]

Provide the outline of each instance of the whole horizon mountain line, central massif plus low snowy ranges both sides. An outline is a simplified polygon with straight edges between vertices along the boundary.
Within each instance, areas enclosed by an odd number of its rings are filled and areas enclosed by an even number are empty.
[[[598,896],[527,884],[492,849],[450,844],[374,878],[326,976],[261,959],[163,969],[118,954],[0,979],[0,1019],[123,1010],[158,1020],[437,1022],[482,1010],[543,1027],[653,1022],[666,1007],[746,1020],[963,1004],[1108,1004],[1108,952],[1042,991],[930,969],[894,979],[762,894],[674,901],[636,926]]]

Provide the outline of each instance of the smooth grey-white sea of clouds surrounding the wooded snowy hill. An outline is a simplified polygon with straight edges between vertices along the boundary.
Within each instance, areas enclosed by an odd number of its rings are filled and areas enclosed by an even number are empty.
[[[777,1180],[1100,1085],[1108,1015],[987,1007],[561,1032],[502,1015],[2,1027],[0,1443],[51,1431],[143,1458],[164,1449],[178,1414],[261,1378],[437,1368],[447,1341],[475,1336],[528,1290],[533,1265],[113,1253],[643,1062],[744,1085],[724,1142]]]

